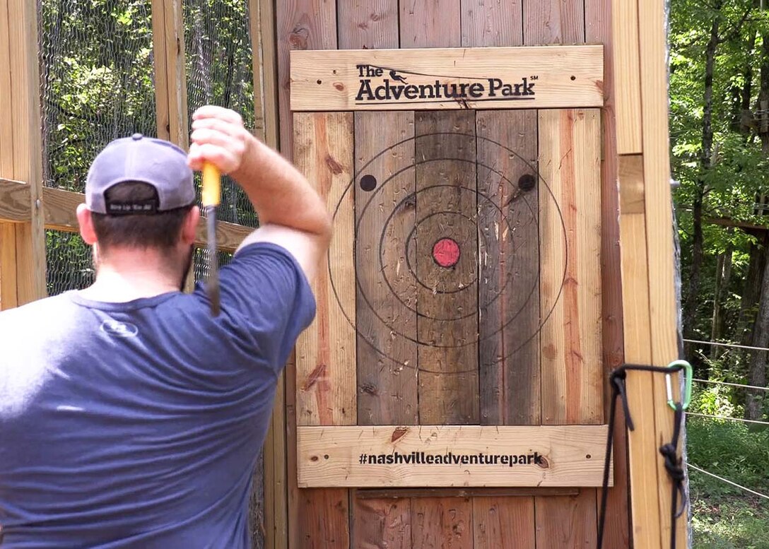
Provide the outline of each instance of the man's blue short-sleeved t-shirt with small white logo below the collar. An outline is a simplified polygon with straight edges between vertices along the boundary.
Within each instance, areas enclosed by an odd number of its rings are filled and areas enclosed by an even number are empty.
[[[285,249],[205,290],[0,314],[0,546],[249,547],[251,474],[315,298]]]

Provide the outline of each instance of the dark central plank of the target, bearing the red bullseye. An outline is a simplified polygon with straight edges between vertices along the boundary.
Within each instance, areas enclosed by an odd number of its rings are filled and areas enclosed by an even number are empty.
[[[413,246],[419,422],[478,423],[478,215],[475,113],[418,112]],[[441,243],[454,257],[441,264]]]

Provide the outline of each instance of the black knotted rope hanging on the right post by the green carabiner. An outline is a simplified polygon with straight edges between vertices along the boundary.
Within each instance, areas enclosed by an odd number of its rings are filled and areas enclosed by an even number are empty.
[[[682,365],[674,365],[667,368],[658,366],[647,366],[642,364],[623,364],[611,372],[609,382],[611,384],[611,407],[609,409],[608,435],[606,437],[606,455],[604,458],[604,484],[601,494],[601,515],[598,517],[598,546],[602,549],[604,546],[604,527],[606,524],[606,506],[608,504],[609,487],[609,465],[611,464],[611,450],[614,443],[614,418],[617,414],[617,399],[621,399],[622,408],[625,416],[625,426],[631,431],[635,431],[633,418],[630,414],[628,405],[628,394],[625,390],[625,381],[628,378],[628,371],[651,371],[660,374],[673,374],[684,369]],[[684,416],[684,408],[681,403],[676,405],[674,413],[673,440],[660,447],[660,454],[664,457],[665,469],[673,481],[671,498],[671,549],[676,549],[676,529],[675,523],[678,517],[684,513],[686,508],[686,493],[684,491],[684,467],[683,460],[677,456],[678,439],[681,438],[681,420]],[[681,496],[681,507],[678,506],[678,496]]]

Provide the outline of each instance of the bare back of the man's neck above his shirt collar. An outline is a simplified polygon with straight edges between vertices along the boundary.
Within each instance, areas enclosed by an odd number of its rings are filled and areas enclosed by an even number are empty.
[[[154,250],[113,250],[98,261],[96,281],[81,291],[93,301],[125,302],[179,291],[180,274]]]

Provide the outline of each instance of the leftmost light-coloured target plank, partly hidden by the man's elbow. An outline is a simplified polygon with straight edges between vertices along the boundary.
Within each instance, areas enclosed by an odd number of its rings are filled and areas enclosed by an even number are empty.
[[[354,165],[353,118],[297,113],[294,134],[297,168],[337,211],[331,248],[313,283],[318,312],[297,342],[297,421],[355,424],[355,205],[344,194]]]

